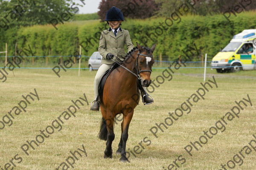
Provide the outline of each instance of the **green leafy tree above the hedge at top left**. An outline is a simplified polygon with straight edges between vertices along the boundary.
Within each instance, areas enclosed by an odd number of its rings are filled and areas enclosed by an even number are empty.
[[[70,16],[76,13],[77,8],[71,8],[73,4],[72,0],[0,0],[0,28],[5,24],[8,27],[47,24],[53,18],[61,18],[63,13],[69,12]]]

